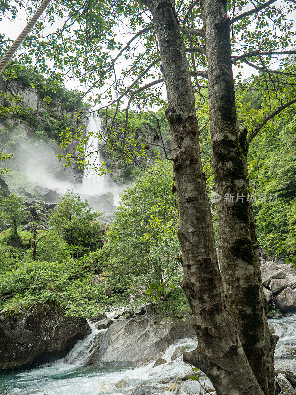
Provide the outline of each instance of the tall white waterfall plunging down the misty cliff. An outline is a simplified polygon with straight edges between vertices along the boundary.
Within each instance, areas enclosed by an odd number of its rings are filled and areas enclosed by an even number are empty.
[[[87,156],[86,160],[90,161],[92,165],[99,166],[102,163],[101,151],[99,150],[101,147],[101,141],[96,134],[102,134],[102,121],[101,118],[95,115],[95,113],[91,113],[88,118],[87,132],[93,132],[94,135],[89,137],[85,147],[86,154],[91,153]],[[100,176],[91,168],[84,169],[81,188],[83,194],[94,195],[106,192],[106,184],[107,179],[105,174]]]

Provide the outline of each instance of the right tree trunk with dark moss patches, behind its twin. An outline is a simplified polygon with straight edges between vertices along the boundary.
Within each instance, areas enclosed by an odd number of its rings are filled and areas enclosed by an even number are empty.
[[[248,182],[236,117],[227,1],[201,0],[208,59],[213,171],[222,199],[218,249],[231,316],[265,394],[275,394],[273,347],[267,325],[259,260],[254,256]],[[243,147],[245,149],[246,147]],[[255,235],[256,237],[256,235]]]

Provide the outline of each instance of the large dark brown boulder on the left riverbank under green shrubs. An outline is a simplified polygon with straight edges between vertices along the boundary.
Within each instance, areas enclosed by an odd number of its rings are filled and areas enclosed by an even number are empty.
[[[91,332],[85,318],[66,317],[41,303],[22,314],[0,313],[0,369],[15,369],[66,354]]]

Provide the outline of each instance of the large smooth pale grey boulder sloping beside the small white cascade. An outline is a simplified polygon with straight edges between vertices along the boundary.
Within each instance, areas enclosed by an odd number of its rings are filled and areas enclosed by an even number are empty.
[[[135,366],[155,361],[177,339],[195,335],[189,319],[138,316],[116,320],[101,338],[96,366]]]

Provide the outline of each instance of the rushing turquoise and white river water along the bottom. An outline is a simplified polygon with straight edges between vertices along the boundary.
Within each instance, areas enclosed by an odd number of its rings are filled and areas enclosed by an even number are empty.
[[[276,358],[280,357],[284,345],[296,343],[296,315],[272,320],[276,334],[281,336],[276,347]],[[91,325],[92,326],[92,325]],[[135,368],[106,368],[82,366],[91,352],[91,345],[98,333],[93,332],[78,342],[68,356],[53,363],[46,363],[31,369],[10,371],[0,377],[0,395],[126,395],[131,389],[145,384],[156,387],[154,394],[172,395],[166,386],[158,384],[165,377],[178,376],[188,365],[182,358],[171,361],[174,350],[186,346],[195,348],[193,339],[183,339],[169,346],[162,356],[167,363],[153,368],[153,363]],[[209,381],[201,377],[201,383],[210,386]],[[157,388],[159,387],[159,391]],[[180,384],[178,394],[204,393],[196,381]]]

